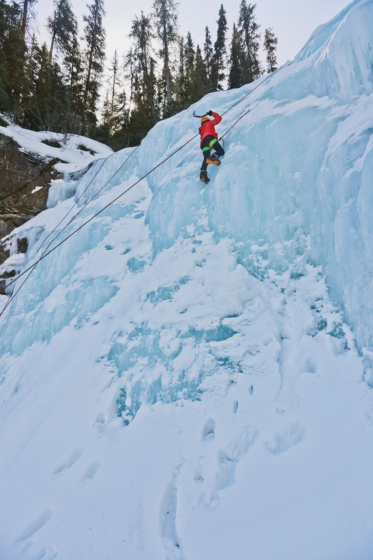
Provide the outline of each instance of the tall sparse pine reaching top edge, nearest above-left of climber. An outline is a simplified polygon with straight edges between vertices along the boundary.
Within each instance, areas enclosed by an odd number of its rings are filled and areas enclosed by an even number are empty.
[[[163,60],[163,74],[166,81],[167,90],[167,112],[171,110],[172,102],[172,77],[170,71],[169,53],[172,45],[177,40],[177,8],[178,4],[174,0],[154,0],[153,9],[155,12],[155,28],[162,47],[159,55]]]

